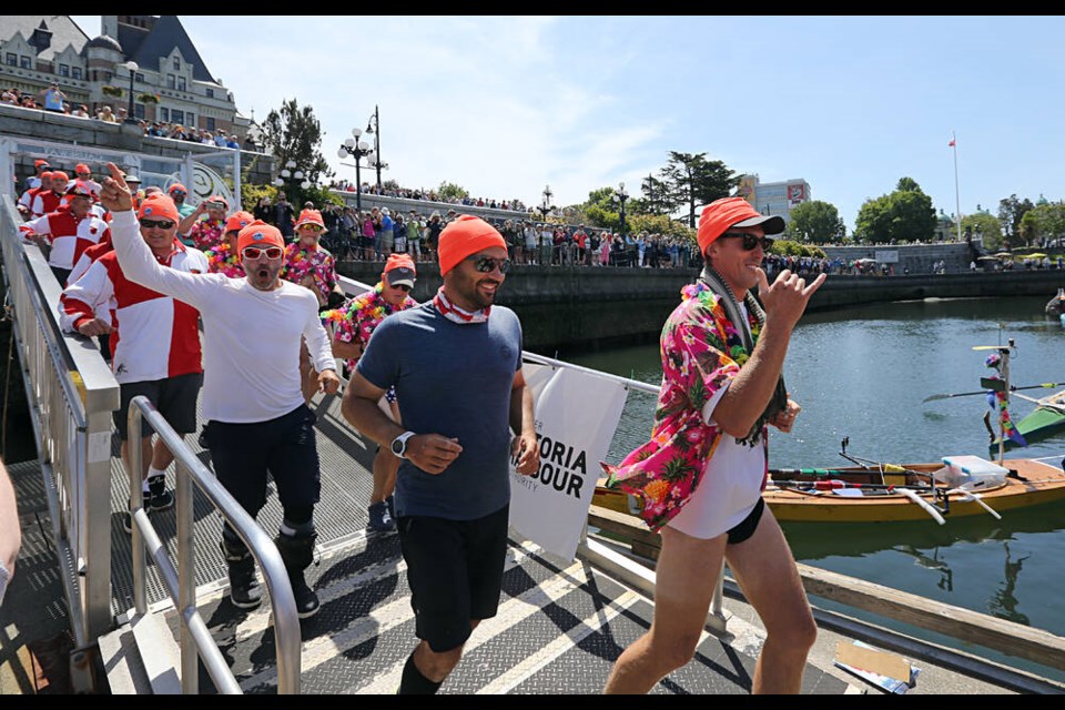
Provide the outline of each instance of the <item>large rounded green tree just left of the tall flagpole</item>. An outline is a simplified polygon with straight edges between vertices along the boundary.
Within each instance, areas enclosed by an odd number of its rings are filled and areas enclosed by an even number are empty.
[[[935,234],[932,197],[912,178],[902,178],[891,194],[866,200],[854,220],[855,241],[902,243]]]

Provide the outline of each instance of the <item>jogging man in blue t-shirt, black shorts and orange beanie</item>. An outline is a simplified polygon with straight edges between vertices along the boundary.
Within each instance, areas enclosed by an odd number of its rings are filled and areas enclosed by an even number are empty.
[[[352,426],[400,459],[396,524],[420,639],[403,669],[404,694],[436,692],[473,629],[496,615],[510,458],[519,474],[539,468],[521,324],[493,305],[510,270],[507,243],[462,215],[437,248],[444,286],[430,303],[381,322],[343,402]],[[377,406],[389,387],[403,426]]]

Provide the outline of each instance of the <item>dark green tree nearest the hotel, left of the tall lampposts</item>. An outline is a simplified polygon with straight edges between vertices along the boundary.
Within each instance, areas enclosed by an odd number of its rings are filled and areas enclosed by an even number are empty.
[[[310,105],[301,108],[295,99],[286,100],[281,109],[266,115],[262,129],[266,152],[277,160],[278,172],[291,160],[312,185],[317,185],[320,178],[333,175],[318,150],[322,146],[322,124],[314,118],[314,109]],[[294,205],[302,205],[305,196],[298,184],[295,192],[288,195],[288,200]]]

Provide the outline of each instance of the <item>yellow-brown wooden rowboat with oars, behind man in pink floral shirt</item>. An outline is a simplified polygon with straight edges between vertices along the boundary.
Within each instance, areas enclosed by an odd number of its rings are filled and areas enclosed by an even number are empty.
[[[982,460],[976,457],[955,458]],[[983,463],[993,469],[997,468],[990,462]],[[967,484],[957,479],[944,480],[944,464],[778,469],[770,471],[771,479],[762,498],[778,520],[797,523],[927,520],[931,514],[927,506],[943,519],[988,515],[985,505],[1005,515],[1017,508],[1065,500],[1065,471],[1062,469],[1027,458],[1006,459],[1003,466],[1007,473],[1002,476],[993,476],[982,483],[970,479]],[[631,496],[620,490],[609,490],[604,483],[602,479],[599,481],[592,505],[639,515]],[[976,494],[978,499],[974,499],[972,494]]]

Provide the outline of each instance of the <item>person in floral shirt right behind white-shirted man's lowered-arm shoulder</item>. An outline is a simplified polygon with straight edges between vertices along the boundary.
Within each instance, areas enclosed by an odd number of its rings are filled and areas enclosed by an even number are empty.
[[[296,241],[285,247],[285,268],[281,277],[300,284],[318,300],[318,310],[344,302],[344,290],[336,276],[336,260],[320,244],[326,232],[325,221],[317,210],[303,210],[296,220]],[[318,390],[317,375],[312,366],[306,344],[301,349],[300,372],[303,375],[303,394],[307,404]]]

